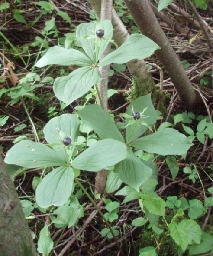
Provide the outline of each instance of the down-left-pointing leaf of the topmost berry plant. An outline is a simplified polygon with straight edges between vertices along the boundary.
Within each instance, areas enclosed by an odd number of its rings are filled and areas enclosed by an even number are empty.
[[[101,80],[98,68],[82,67],[68,76],[57,77],[53,85],[55,96],[67,105],[87,93]]]

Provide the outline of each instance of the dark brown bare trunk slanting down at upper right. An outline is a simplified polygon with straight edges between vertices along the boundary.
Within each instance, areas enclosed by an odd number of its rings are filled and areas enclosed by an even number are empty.
[[[181,61],[161,29],[155,17],[155,13],[153,13],[149,4],[149,0],[124,0],[124,2],[139,27],[139,30],[161,47],[160,50],[155,51],[155,55],[165,67],[180,99],[187,106],[195,105],[199,96],[190,83]]]

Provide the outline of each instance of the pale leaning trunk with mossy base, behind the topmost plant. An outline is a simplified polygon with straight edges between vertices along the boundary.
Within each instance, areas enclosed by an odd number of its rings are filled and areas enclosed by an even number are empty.
[[[97,13],[97,16],[100,18],[101,1],[89,0],[89,2]],[[114,27],[113,39],[118,44],[118,46],[120,46],[129,37],[129,33],[114,9],[112,10],[112,24]],[[148,73],[145,61],[132,60],[127,63],[127,67],[129,68],[129,72],[136,82],[136,95],[133,97],[146,95],[152,92],[153,99],[155,99],[155,83],[151,74]]]

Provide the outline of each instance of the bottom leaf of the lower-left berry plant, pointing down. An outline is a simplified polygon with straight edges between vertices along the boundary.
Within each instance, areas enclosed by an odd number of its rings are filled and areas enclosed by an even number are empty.
[[[48,173],[36,188],[35,199],[42,208],[65,204],[74,190],[74,171],[61,166]]]

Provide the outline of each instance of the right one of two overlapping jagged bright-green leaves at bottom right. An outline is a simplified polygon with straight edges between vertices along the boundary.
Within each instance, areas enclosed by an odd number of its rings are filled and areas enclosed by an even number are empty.
[[[189,238],[189,244],[192,244],[192,242],[197,244],[200,243],[202,231],[196,221],[193,219],[184,219],[178,224],[178,226],[186,230]]]

